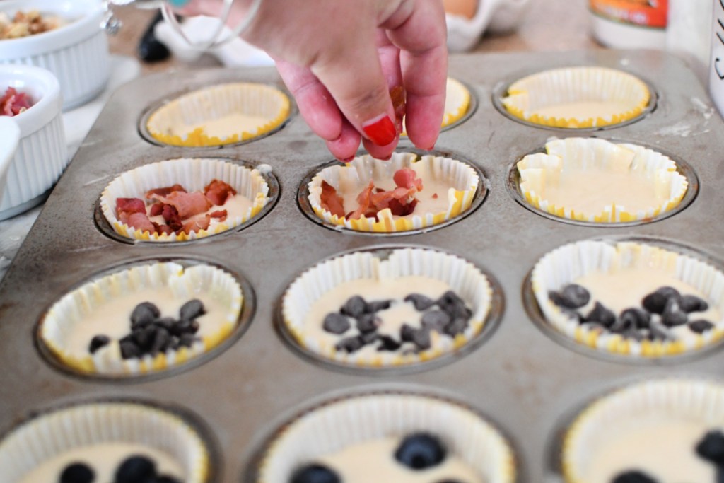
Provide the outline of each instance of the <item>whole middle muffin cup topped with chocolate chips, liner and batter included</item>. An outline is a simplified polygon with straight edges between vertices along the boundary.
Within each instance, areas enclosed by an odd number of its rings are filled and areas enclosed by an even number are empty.
[[[376,248],[321,261],[287,288],[278,323],[292,348],[339,369],[387,373],[445,364],[502,314],[500,286],[468,261]]]

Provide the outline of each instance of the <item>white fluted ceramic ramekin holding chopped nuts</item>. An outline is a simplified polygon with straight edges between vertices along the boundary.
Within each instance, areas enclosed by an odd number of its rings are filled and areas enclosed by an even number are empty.
[[[68,21],[49,32],[0,41],[0,64],[25,64],[53,72],[63,93],[63,109],[90,101],[110,75],[108,39],[101,29],[100,0],[3,0],[0,11],[39,10]]]

